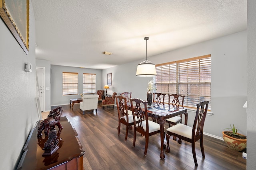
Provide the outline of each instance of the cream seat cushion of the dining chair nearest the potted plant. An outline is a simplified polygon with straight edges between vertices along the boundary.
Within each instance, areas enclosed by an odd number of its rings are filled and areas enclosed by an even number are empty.
[[[186,138],[192,139],[192,127],[179,123],[178,125],[169,127],[166,129],[171,133],[175,133],[177,135],[184,136]]]

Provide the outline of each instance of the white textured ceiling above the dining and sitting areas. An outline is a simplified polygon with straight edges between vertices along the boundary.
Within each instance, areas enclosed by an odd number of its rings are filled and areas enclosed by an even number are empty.
[[[150,57],[247,28],[246,0],[31,1],[36,59],[62,66],[105,69],[142,62],[144,37]]]

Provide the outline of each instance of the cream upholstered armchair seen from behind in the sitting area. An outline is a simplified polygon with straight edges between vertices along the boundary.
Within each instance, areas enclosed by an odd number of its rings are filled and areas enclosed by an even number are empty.
[[[99,98],[98,94],[84,95],[83,101],[80,102],[80,111],[83,111],[83,114],[84,114],[85,110],[95,109],[97,113],[98,98]]]

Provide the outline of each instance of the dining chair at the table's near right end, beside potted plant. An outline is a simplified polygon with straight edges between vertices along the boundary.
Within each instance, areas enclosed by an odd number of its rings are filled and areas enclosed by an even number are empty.
[[[189,127],[188,125],[184,125],[182,123],[179,123],[178,125],[169,127],[166,134],[166,141],[167,141],[167,148],[166,152],[170,152],[170,146],[169,146],[169,139],[170,136],[174,135],[179,138],[178,143],[181,144],[181,139],[187,142],[191,143],[192,147],[192,153],[195,165],[197,166],[197,160],[196,160],[196,148],[195,143],[196,141],[200,140],[200,148],[202,152],[203,158],[205,158],[204,155],[204,144],[203,144],[203,129],[204,129],[204,121],[207,114],[209,101],[200,102],[197,104],[196,108],[196,116],[194,120],[193,127]]]

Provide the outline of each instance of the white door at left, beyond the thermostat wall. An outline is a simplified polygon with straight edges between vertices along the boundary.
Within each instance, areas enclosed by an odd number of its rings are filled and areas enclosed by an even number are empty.
[[[38,81],[38,97],[40,101],[41,112],[44,111],[44,67],[36,67]]]

